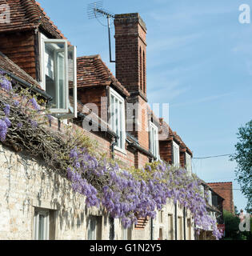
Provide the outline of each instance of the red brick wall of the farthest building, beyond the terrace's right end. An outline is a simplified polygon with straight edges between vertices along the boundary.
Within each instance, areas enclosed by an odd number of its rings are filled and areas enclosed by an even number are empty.
[[[223,210],[228,210],[234,214],[234,199],[233,199],[233,183],[232,182],[216,182],[208,183],[208,185],[222,198]]]

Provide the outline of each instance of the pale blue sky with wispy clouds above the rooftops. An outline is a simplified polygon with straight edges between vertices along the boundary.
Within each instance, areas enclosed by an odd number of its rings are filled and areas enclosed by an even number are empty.
[[[38,2],[78,46],[78,56],[100,54],[114,73],[107,30],[99,23],[106,19],[87,18],[90,1]],[[146,22],[149,102],[170,104],[170,126],[194,157],[234,153],[238,127],[252,117],[252,23],[238,22],[243,3],[252,10],[252,0],[103,1],[114,14],[138,12]],[[206,182],[234,182],[239,189],[235,166],[228,157],[193,161]],[[239,190],[234,204],[246,206]]]

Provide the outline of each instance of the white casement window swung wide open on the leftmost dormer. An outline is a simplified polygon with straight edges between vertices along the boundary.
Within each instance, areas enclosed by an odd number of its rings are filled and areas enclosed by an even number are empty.
[[[53,98],[50,111],[61,118],[77,117],[76,47],[65,39],[42,37],[42,88]],[[70,106],[69,88],[73,89],[74,106]]]

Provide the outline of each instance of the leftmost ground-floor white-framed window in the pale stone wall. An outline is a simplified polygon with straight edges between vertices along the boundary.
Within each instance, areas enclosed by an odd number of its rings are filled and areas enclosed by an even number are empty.
[[[44,216],[45,222],[43,226],[44,234],[42,240],[49,240],[49,210],[37,210],[35,209],[34,213],[34,240],[38,240],[38,231],[39,231],[39,215]]]

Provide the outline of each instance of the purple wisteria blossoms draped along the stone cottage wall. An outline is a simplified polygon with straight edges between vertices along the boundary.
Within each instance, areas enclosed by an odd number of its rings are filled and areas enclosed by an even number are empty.
[[[28,109],[26,122],[36,129],[38,122],[34,113],[41,111],[36,98],[22,94],[10,101],[13,87],[10,78],[3,73],[0,73],[0,89],[9,94],[9,102],[1,102],[0,140],[6,140],[10,127],[18,130],[26,125],[23,121],[11,120],[10,110],[15,108],[25,108],[25,112]],[[21,106],[24,99],[26,105]],[[50,114],[46,117],[51,118]],[[198,231],[199,228],[212,229],[215,238],[222,237],[215,219],[207,213],[206,198],[199,192],[198,178],[184,169],[154,162],[142,170],[122,170],[118,163],[98,158],[87,148],[78,146],[72,147],[65,159],[67,178],[76,193],[86,196],[86,206],[103,207],[112,218],[120,218],[125,228],[137,224],[138,218],[155,218],[156,210],[161,210],[170,200],[190,210]]]

